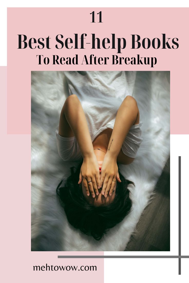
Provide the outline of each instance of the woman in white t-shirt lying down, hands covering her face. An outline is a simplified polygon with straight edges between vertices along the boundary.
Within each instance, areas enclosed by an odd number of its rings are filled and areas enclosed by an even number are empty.
[[[139,109],[129,95],[136,74],[65,72],[65,76],[70,96],[56,130],[58,152],[63,160],[82,164],[63,187],[59,184],[57,193],[70,224],[99,240],[131,209],[127,186],[132,182],[118,172],[117,162],[133,162],[142,141]]]

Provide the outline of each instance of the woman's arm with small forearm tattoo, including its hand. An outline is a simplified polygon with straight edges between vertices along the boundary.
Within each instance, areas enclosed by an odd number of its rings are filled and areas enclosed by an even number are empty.
[[[114,128],[109,141],[107,153],[103,160],[101,168],[100,186],[102,194],[106,197],[108,192],[111,195],[115,182],[112,181],[118,176],[117,156],[121,150],[122,144],[133,124],[139,123],[139,110],[135,98],[127,96],[118,109]]]

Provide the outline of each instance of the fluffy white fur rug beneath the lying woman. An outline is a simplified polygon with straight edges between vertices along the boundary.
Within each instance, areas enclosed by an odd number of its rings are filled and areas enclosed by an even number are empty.
[[[63,162],[57,152],[55,128],[67,97],[63,72],[31,74],[32,250],[122,251],[146,207],[169,157],[169,72],[137,72],[134,97],[140,110],[143,142],[137,157],[120,171],[130,185],[131,213],[100,241],[83,235],[68,222],[56,197],[56,187],[75,162]]]

